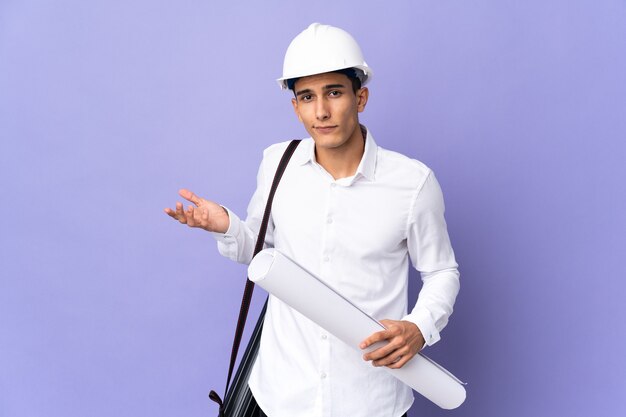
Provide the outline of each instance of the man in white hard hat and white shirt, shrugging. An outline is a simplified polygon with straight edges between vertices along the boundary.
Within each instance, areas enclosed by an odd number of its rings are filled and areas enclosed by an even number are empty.
[[[296,149],[278,187],[266,242],[381,319],[386,330],[361,349],[387,343],[359,355],[270,296],[249,381],[270,417],[403,415],[412,391],[381,367],[400,368],[435,343],[452,313],[459,274],[441,190],[428,167],[380,148],[359,123],[371,77],[358,44],[341,29],[312,24],[290,44],[278,81],[293,91],[311,138]],[[214,232],[221,254],[249,263],[286,146],[265,150],[245,222],[189,190],[180,195],[195,207],[176,203],[166,213]],[[409,260],[423,287],[407,314]]]

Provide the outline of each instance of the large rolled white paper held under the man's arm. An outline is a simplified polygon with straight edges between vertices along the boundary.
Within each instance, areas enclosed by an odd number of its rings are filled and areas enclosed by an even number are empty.
[[[248,277],[357,351],[364,339],[385,328],[276,249],[259,252],[248,267]],[[465,401],[463,383],[421,353],[400,369],[383,369],[441,408],[457,408]]]

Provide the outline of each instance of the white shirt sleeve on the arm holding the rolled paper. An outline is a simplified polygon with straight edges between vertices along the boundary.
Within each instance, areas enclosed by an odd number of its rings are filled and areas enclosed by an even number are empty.
[[[430,172],[413,202],[407,237],[409,255],[423,285],[415,307],[404,318],[419,327],[429,346],[440,339],[460,287],[444,211],[441,188]]]

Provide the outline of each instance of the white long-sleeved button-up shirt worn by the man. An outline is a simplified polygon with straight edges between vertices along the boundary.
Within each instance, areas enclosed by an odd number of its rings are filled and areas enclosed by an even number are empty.
[[[222,255],[250,263],[287,144],[264,151],[246,221],[229,211],[228,231],[215,234]],[[311,138],[303,140],[289,162],[274,198],[267,246],[374,318],[409,320],[427,345],[437,342],[452,313],[459,273],[432,171],[377,146],[369,131],[349,178],[333,179],[314,149]],[[423,285],[407,315],[409,260]],[[399,417],[413,402],[409,387],[272,296],[249,385],[269,417]]]

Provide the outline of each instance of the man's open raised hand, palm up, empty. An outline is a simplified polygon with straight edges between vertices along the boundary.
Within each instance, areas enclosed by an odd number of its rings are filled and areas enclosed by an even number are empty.
[[[165,213],[173,219],[189,227],[199,227],[209,232],[226,233],[230,220],[228,212],[219,204],[198,197],[187,189],[181,189],[178,194],[194,205],[184,210],[183,204],[176,202],[176,209],[166,208]]]

